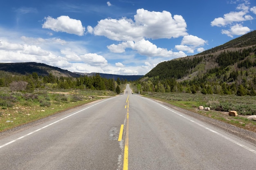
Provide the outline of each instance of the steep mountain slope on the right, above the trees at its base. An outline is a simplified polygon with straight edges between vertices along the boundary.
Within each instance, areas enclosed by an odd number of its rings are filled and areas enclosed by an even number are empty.
[[[248,75],[247,80],[256,73],[256,31],[197,55],[161,62],[142,80],[158,77],[178,82],[241,82],[243,76],[238,77],[238,72]]]

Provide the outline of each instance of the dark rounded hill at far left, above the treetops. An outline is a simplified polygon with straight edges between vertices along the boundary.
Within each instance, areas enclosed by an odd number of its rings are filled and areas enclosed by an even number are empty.
[[[43,63],[22,62],[22,63],[0,63],[0,70],[10,73],[20,73],[23,75],[36,72],[38,75],[46,76],[52,73],[54,76],[60,77],[79,77],[79,74],[71,71],[63,70],[58,67],[49,66]]]

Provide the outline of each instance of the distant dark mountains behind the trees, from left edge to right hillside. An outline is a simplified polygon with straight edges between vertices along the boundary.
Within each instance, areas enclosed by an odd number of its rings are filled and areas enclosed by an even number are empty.
[[[56,77],[80,77],[81,75],[87,76],[94,76],[97,73],[78,73],[78,72],[71,72],[67,70],[63,70],[58,67],[49,66],[43,63],[36,63],[36,62],[22,62],[22,63],[0,63],[0,70],[7,71],[10,73],[18,73],[22,75],[32,74],[36,72],[38,75],[46,76],[49,73],[52,73]],[[127,79],[127,81],[134,81],[137,80],[143,75],[114,75],[114,74],[103,74],[99,73],[99,75],[106,79]]]

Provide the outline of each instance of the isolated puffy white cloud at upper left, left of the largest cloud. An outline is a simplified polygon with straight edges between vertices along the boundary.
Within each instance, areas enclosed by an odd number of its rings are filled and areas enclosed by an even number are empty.
[[[42,27],[56,32],[61,31],[79,36],[84,35],[85,31],[85,27],[82,26],[82,22],[80,20],[75,20],[69,16],[63,15],[56,19],[50,16],[46,17]]]

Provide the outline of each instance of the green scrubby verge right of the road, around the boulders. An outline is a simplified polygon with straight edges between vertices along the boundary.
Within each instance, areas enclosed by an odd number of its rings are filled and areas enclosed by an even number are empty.
[[[249,115],[256,114],[255,96],[241,97],[235,95],[202,95],[189,93],[145,93],[144,96],[256,132],[256,121],[247,119]],[[201,105],[210,107],[211,110],[198,110],[198,107]],[[229,110],[236,110],[238,117],[229,116]]]

